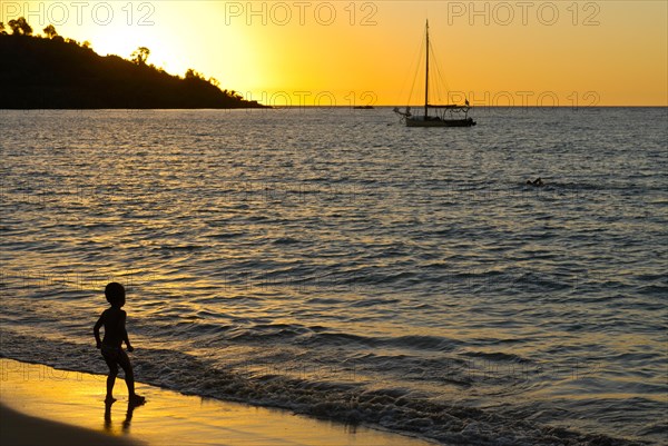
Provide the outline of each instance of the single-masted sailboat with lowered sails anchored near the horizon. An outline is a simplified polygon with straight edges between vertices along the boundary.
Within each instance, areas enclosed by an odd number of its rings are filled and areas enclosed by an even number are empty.
[[[429,20],[425,26],[426,33],[426,58],[425,58],[425,81],[424,81],[424,115],[413,115],[411,108],[406,107],[405,111],[401,111],[399,107],[394,108],[394,112],[402,117],[407,127],[471,127],[475,126],[475,121],[469,118],[471,106],[466,99],[463,106],[454,103],[436,106],[429,103]],[[429,110],[434,109],[432,116]],[[463,113],[463,117],[462,117]]]

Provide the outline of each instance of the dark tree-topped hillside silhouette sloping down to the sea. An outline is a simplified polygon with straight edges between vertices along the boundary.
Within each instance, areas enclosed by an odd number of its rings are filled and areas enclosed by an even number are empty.
[[[0,109],[191,109],[261,108],[235,91],[220,90],[189,69],[178,77],[148,65],[150,51],[139,48],[131,60],[99,56],[58,36],[32,36],[24,19],[11,20],[9,34],[0,23]]]

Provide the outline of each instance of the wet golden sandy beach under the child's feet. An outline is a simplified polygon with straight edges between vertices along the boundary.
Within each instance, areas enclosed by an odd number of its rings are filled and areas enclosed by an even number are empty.
[[[285,410],[186,396],[138,383],[131,409],[122,381],[106,407],[105,376],[0,359],[2,445],[402,445],[426,443]]]

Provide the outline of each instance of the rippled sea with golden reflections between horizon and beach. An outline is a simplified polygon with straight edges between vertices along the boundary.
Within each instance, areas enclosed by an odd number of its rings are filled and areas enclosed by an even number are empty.
[[[0,110],[0,355],[105,374],[118,281],[141,383],[442,445],[668,444],[668,109],[470,116]]]

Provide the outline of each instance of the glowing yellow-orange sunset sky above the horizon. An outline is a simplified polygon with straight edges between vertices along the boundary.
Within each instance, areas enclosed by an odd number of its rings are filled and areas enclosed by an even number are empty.
[[[448,87],[473,105],[667,106],[667,4],[2,0],[0,21],[53,23],[101,54],[145,46],[150,63],[264,103],[346,106],[409,102],[429,18]]]

